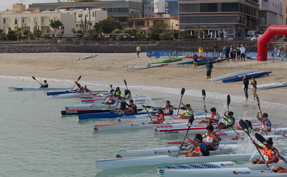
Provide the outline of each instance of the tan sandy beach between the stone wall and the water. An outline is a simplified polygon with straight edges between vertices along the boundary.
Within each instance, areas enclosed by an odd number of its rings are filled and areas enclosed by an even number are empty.
[[[146,65],[148,63],[167,60],[164,58],[148,58],[146,53],[101,53],[99,56],[79,60],[81,56],[94,53],[1,53],[0,75],[2,76],[26,76],[41,78],[59,78],[76,80],[79,75],[82,80],[105,80],[123,84],[126,79],[129,85],[140,84],[150,86],[162,86],[182,88],[187,90],[203,89],[206,92],[231,94],[245,97],[242,81],[222,83],[221,81],[206,81],[206,69],[193,65],[177,65],[170,63],[167,66],[143,70],[123,70],[125,67]],[[190,61],[185,58],[183,61]],[[287,62],[257,62],[246,60],[243,62],[215,63],[211,78],[230,74],[243,70],[257,69],[257,72],[271,71],[269,76],[256,78],[257,85],[287,81]],[[257,95],[263,101],[287,104],[287,87],[258,90]],[[249,100],[253,101],[252,91],[249,91]]]

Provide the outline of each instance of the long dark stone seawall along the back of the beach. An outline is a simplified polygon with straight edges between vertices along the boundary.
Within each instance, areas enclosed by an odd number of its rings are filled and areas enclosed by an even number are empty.
[[[214,41],[214,40],[175,40],[175,41],[158,41],[153,45],[140,45],[141,52],[147,50],[180,50],[180,51],[197,51],[202,45],[205,51],[213,51],[213,45],[217,42],[219,48],[223,45],[244,44],[248,51],[256,52],[257,43],[253,41],[236,42],[236,41]],[[272,44],[269,48],[273,49]],[[44,52],[83,52],[83,53],[131,53],[135,52],[136,45],[0,45],[0,53],[44,53]]]

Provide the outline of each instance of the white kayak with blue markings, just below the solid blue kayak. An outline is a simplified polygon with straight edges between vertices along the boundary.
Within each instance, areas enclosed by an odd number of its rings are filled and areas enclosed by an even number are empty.
[[[153,120],[156,119],[152,115],[151,115],[151,117]],[[208,115],[207,117],[210,117],[210,115]],[[197,122],[205,119],[205,115],[194,115],[194,119],[196,119],[196,120],[194,120],[193,122],[197,123]],[[164,120],[180,120],[180,119],[177,119],[175,115],[165,115]],[[181,120],[185,120],[185,119],[181,119]],[[131,121],[150,122],[150,116],[149,116],[149,114],[122,116],[122,117],[118,117],[117,121],[118,122],[131,122]],[[186,121],[188,121],[188,119],[186,119]]]

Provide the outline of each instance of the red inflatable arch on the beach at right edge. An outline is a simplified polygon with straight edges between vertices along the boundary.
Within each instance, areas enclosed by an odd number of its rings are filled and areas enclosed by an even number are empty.
[[[275,36],[286,36],[287,25],[270,25],[257,41],[257,61],[267,61],[268,43]]]

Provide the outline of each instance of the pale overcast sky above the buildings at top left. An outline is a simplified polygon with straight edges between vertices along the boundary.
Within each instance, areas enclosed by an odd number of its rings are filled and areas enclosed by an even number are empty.
[[[26,8],[33,3],[56,3],[57,0],[23,0],[20,3],[26,5]],[[19,0],[0,0],[0,11],[6,11],[6,9],[12,9],[12,5],[19,3]]]

